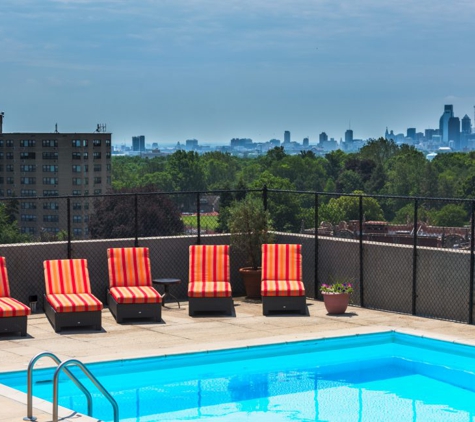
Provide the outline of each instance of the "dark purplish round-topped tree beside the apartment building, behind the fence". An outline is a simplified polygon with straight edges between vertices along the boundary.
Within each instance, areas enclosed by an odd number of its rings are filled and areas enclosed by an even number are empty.
[[[180,212],[168,196],[156,193],[151,186],[124,189],[120,193],[138,194],[138,236],[172,236],[184,232]],[[135,237],[135,195],[104,196],[94,202],[94,211],[89,221],[91,238]]]

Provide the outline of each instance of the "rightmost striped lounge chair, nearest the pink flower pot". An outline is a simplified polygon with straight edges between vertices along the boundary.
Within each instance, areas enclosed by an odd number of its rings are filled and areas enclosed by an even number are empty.
[[[298,311],[305,315],[307,304],[302,283],[302,245],[262,245],[262,308]]]

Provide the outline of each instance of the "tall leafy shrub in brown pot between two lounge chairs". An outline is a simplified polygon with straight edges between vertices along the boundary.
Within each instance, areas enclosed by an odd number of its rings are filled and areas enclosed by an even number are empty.
[[[269,212],[259,198],[246,196],[228,208],[231,246],[244,252],[248,267],[239,270],[248,298],[261,297],[261,249],[272,242]]]

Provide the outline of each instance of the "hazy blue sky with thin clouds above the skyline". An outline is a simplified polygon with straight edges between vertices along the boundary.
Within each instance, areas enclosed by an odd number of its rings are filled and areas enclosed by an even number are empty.
[[[4,132],[377,138],[475,105],[474,0],[1,0]]]

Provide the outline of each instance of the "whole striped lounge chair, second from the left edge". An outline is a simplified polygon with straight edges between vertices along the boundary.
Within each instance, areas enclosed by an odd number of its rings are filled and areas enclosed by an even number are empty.
[[[64,327],[102,328],[102,302],[91,292],[87,260],[57,259],[43,263],[45,313],[57,333]]]

